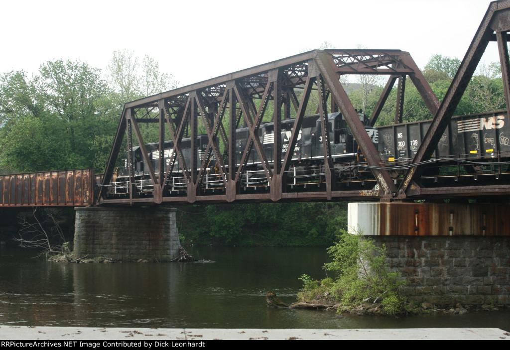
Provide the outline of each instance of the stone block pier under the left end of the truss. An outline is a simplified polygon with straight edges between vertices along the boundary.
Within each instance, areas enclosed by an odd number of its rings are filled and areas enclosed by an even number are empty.
[[[179,254],[181,244],[175,209],[77,207],[75,210],[75,257],[170,261]]]

